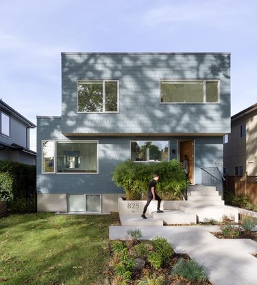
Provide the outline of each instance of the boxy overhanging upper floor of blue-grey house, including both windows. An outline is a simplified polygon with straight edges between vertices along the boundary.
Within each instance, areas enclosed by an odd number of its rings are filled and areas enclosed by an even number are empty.
[[[230,133],[230,53],[62,53],[62,133]]]

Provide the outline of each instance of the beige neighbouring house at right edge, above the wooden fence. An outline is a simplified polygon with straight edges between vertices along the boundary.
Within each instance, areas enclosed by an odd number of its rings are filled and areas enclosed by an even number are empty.
[[[231,117],[231,133],[224,136],[224,174],[257,176],[257,104]]]

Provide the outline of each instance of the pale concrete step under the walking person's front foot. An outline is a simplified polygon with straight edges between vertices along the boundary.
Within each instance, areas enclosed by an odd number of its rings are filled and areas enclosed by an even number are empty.
[[[197,223],[197,215],[180,210],[164,210],[163,213],[151,213],[154,219],[162,219],[165,225],[191,225]]]

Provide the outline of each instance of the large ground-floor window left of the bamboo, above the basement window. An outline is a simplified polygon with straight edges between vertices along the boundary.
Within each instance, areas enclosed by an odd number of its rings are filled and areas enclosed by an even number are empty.
[[[43,141],[45,173],[98,173],[97,141]]]

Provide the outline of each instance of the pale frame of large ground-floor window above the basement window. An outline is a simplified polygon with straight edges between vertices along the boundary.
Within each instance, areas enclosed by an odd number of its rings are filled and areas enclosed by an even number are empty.
[[[44,172],[44,153],[42,151],[41,157],[42,157],[42,169],[41,169],[41,173],[42,174],[60,174],[60,175],[64,175],[64,174],[69,174],[69,175],[88,175],[88,174],[99,174],[99,141],[97,139],[93,139],[93,140],[82,140],[82,141],[69,141],[69,140],[55,140],[55,139],[42,139],[41,141],[41,146],[42,146],[42,150],[43,150],[43,142],[44,141],[53,141],[53,163],[54,163],[54,170],[53,172]],[[57,163],[58,163],[58,157],[57,157],[57,144],[58,143],[88,143],[88,142],[95,142],[97,143],[97,172],[58,172],[58,167],[57,167]]]

